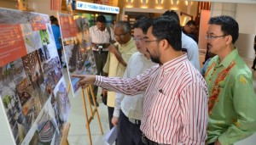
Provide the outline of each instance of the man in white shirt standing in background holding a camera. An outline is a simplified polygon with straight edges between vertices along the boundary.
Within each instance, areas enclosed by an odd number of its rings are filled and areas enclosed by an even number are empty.
[[[90,42],[93,50],[94,59],[96,62],[96,75],[104,75],[103,67],[108,58],[108,47],[113,40],[113,30],[110,27],[106,27],[106,18],[104,15],[99,15],[96,18],[96,25],[91,26],[89,29]],[[98,86],[93,86],[93,93],[96,98],[98,92]],[[90,102],[93,105],[90,94]],[[96,106],[99,104],[96,102]]]

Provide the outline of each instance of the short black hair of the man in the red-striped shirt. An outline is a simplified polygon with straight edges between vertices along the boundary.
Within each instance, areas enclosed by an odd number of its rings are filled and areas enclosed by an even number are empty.
[[[177,19],[166,15],[154,19],[152,34],[158,41],[166,39],[174,50],[182,50],[182,30]]]

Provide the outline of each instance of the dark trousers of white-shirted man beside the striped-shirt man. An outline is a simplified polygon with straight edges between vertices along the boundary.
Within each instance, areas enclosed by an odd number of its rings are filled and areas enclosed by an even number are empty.
[[[119,115],[117,145],[141,145],[143,132],[140,125],[133,124],[121,111]]]

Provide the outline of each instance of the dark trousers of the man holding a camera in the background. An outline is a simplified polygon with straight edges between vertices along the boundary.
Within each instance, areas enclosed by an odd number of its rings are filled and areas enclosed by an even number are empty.
[[[103,73],[103,68],[108,59],[108,52],[98,53],[96,51],[93,51],[93,55],[94,55],[94,60],[96,63],[96,70],[97,70],[96,75],[105,76],[105,73]],[[98,86],[93,86],[93,94],[94,94],[95,99],[97,98],[97,92],[98,92]],[[91,94],[90,94],[90,98],[92,98]]]

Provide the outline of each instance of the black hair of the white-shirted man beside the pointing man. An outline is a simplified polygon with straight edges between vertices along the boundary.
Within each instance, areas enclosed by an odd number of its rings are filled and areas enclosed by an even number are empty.
[[[148,28],[152,25],[152,19],[143,18],[140,20],[137,20],[133,28],[139,28],[143,31],[143,34],[147,34]]]

